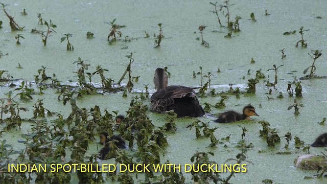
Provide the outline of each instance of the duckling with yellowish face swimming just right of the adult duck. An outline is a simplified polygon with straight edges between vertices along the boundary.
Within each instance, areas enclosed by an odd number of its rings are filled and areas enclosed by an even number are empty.
[[[243,108],[243,113],[239,113],[233,110],[229,110],[226,112],[223,112],[220,114],[217,120],[215,122],[218,123],[229,123],[229,122],[235,122],[240,120],[249,120],[250,116],[259,116],[252,105],[247,105]]]

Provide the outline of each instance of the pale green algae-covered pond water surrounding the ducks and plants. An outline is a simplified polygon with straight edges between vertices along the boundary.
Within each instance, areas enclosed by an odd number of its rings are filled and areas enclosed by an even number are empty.
[[[303,107],[299,108],[298,116],[294,115],[294,108],[287,110],[294,104],[295,97],[289,97],[286,90],[287,84],[295,77],[298,79],[305,76],[303,70],[313,61],[308,55],[311,50],[319,50],[322,53],[315,62],[315,75],[327,76],[325,72],[327,70],[326,1],[229,1],[230,20],[234,21],[236,16],[242,17],[239,20],[241,32],[232,32],[231,38],[224,37],[229,31],[219,26],[216,15],[210,12],[214,6],[209,4],[209,1],[42,1],[39,3],[3,1],[2,3],[8,4],[7,12],[14,17],[20,27],[24,27],[24,31],[11,32],[9,20],[2,13],[0,70],[8,71],[6,74],[17,79],[17,84],[21,81],[33,83],[34,76],[41,66],[47,68],[46,74],[49,76],[56,74],[56,78],[61,83],[72,84],[78,81],[74,73],[78,67],[74,61],[79,57],[90,64],[87,72],[94,72],[96,67],[101,65],[108,70],[105,76],[118,82],[129,62],[126,55],[133,53],[132,76],[139,76],[138,82],[134,82],[135,91],[145,91],[145,85],[149,84],[150,92],[153,93],[154,71],[157,67],[165,66],[171,73],[170,85],[200,86],[201,77],[196,75],[196,78],[193,78],[193,71],[200,72],[199,67],[202,66],[203,74],[208,72],[213,74],[211,87],[216,91],[228,90],[228,84],[233,84],[234,88],[239,86],[241,91],[246,91],[248,79],[255,78],[255,71],[261,69],[266,80],[269,77],[270,82],[273,82],[274,71],[267,70],[273,68],[274,64],[283,65],[278,68],[278,83],[275,89],[270,87],[271,95],[268,94],[270,88],[265,86],[264,79],[261,79],[256,84],[255,95],[241,95],[240,99],[228,96],[229,98],[225,100],[226,108],[212,108],[205,117],[199,118],[203,122],[208,122],[210,127],[219,127],[215,131],[217,139],[230,135],[229,142],[218,144],[216,149],[209,148],[209,139],[196,139],[195,130],[186,128],[197,119],[181,118],[176,120],[177,132],[167,134],[169,146],[165,155],[161,157],[161,162],[164,163],[169,159],[173,164],[191,164],[190,158],[196,151],[212,151],[215,155],[210,156],[210,160],[223,164],[226,159],[235,158],[241,152],[236,147],[241,140],[242,128],[238,126],[240,125],[248,130],[244,137],[245,142],[254,145],[246,154],[247,160],[253,165],[247,163],[247,172],[236,174],[230,182],[261,183],[263,179],[272,179],[275,183],[326,182],[325,179],[303,179],[304,176],[311,176],[316,171],[294,168],[294,158],[307,154],[306,151],[295,148],[294,139],[288,149],[284,148],[286,144],[284,135],[287,132],[291,132],[292,137],[300,137],[305,145],[313,143],[316,136],[325,132],[326,125],[319,125],[318,122],[326,117],[327,96],[324,93],[326,79],[301,81],[303,98],[298,98],[297,101],[303,104]],[[222,1],[218,2],[218,5],[222,4]],[[20,15],[19,12],[23,9],[26,9],[27,16]],[[270,15],[265,15],[265,10]],[[256,21],[250,18],[252,12]],[[34,28],[37,30],[46,28],[44,25],[38,25],[38,13],[41,13],[43,20],[51,19],[57,26],[54,29],[57,33],[48,38],[46,47],[43,46],[39,34],[31,33]],[[226,18],[222,12],[219,13],[223,26],[226,26]],[[120,29],[122,37],[109,45],[107,36],[110,25],[105,22],[113,19],[116,19],[115,24],[126,27]],[[154,34],[159,34],[159,23],[162,24],[162,33],[165,37],[160,43],[161,46],[154,48],[156,39]],[[201,41],[196,39],[201,37],[198,30],[201,25],[207,26],[203,31],[203,39],[208,42],[209,47],[204,47]],[[301,39],[298,32],[301,26],[304,30],[309,30],[303,35],[308,43],[307,48],[295,47],[296,42]],[[284,32],[293,30],[296,30],[295,34],[283,35]],[[94,33],[93,39],[86,38],[88,31]],[[145,38],[145,32],[149,33],[150,37]],[[60,43],[60,38],[67,33],[73,35],[69,38],[74,46],[72,52],[66,51],[66,40]],[[25,38],[19,40],[20,45],[16,45],[17,34]],[[128,38],[130,41],[124,41]],[[281,59],[282,53],[279,52],[282,49],[285,49],[284,59]],[[255,63],[251,64],[251,58]],[[17,68],[18,63],[22,68]],[[218,68],[220,73],[217,73]],[[3,77],[6,77],[6,74]],[[92,80],[101,84],[100,78]],[[203,78],[203,83],[207,80]],[[125,77],[122,83],[126,84],[127,81],[128,77]],[[292,87],[295,89],[294,84]],[[0,98],[5,98],[5,94],[13,90],[5,82],[1,83],[0,89]],[[29,109],[28,112],[21,113],[22,118],[33,116],[32,106],[37,99],[43,99],[44,107],[59,112],[66,118],[71,112],[71,106],[69,104],[64,106],[57,100],[58,94],[55,93],[55,89],[46,89],[43,92],[43,95],[34,95],[31,102],[18,100],[21,106]],[[284,95],[283,99],[276,98],[279,92]],[[131,99],[139,93],[127,95],[127,98],[123,98],[122,93],[84,96],[77,100],[77,105],[87,109],[98,105],[101,110],[107,108],[109,112],[119,111],[126,114]],[[205,102],[215,105],[220,101],[220,97],[203,97],[199,98],[199,101],[203,107]],[[144,103],[150,105],[150,100]],[[249,103],[256,108],[260,117],[254,117],[252,121],[231,124],[213,122],[218,113],[230,109],[241,111],[243,106]],[[148,116],[154,125],[162,126],[167,122],[168,115],[148,112]],[[262,126],[258,121],[261,120],[269,122],[271,128],[277,129],[281,144],[277,144],[275,148],[267,147],[265,140],[259,136]],[[28,133],[30,128],[30,123],[24,122],[21,129],[3,132],[1,139],[6,139],[14,149],[19,150],[22,145],[17,143],[17,140],[21,139],[21,133]],[[283,151],[290,151],[291,154],[276,154]],[[311,154],[321,154],[320,152],[323,151],[323,148],[310,149]],[[98,150],[94,143],[87,154],[96,152]],[[222,175],[227,177],[229,173]],[[190,173],[184,173],[184,176],[187,182],[192,182]],[[77,180],[72,182],[75,181]]]

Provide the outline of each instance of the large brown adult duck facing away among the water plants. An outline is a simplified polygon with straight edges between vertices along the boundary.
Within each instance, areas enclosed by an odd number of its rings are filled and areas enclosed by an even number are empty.
[[[157,68],[153,82],[157,91],[151,97],[151,109],[155,112],[174,110],[178,117],[201,117],[204,110],[199,104],[195,91],[198,87],[168,85],[168,76],[164,69]]]

